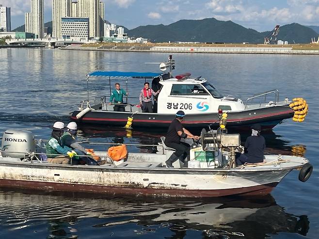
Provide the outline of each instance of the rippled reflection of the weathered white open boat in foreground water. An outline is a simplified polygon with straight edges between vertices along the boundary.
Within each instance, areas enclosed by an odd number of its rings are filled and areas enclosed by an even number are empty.
[[[264,239],[285,232],[306,236],[309,220],[285,212],[271,195],[202,200],[105,197],[79,193],[41,195],[0,191],[0,230],[11,238],[33,231],[38,238]],[[6,229],[5,231],[3,229]],[[34,229],[36,228],[36,229]],[[147,235],[148,234],[148,235]],[[33,237],[32,236],[32,237]],[[289,237],[289,236],[288,236]],[[293,237],[293,235],[291,235]]]

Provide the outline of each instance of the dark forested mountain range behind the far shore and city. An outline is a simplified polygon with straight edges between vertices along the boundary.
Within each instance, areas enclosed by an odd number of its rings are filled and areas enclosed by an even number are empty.
[[[45,27],[52,27],[52,21],[47,22]],[[13,31],[24,32],[24,25]],[[215,18],[179,20],[169,25],[139,26],[131,30],[125,28],[125,32],[129,37],[144,37],[151,42],[249,42],[252,44],[263,43],[264,37],[270,37],[272,34],[272,31],[257,32],[233,21],[220,21]],[[291,23],[280,27],[277,40],[288,41],[291,44],[310,43],[312,37],[318,38],[318,36],[319,26]]]

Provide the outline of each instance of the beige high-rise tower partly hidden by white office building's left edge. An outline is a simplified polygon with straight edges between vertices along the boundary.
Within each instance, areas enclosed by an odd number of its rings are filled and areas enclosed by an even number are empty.
[[[52,36],[62,38],[62,17],[71,16],[71,0],[52,0]]]

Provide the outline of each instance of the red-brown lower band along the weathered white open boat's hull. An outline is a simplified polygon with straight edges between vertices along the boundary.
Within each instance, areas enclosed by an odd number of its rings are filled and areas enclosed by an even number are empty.
[[[144,194],[164,197],[221,197],[236,194],[261,195],[269,194],[278,183],[269,183],[254,187],[223,189],[223,190],[175,190],[175,189],[151,189],[151,188],[125,188],[83,184],[67,184],[53,182],[37,182],[13,179],[0,179],[0,187],[21,188],[44,191],[77,191],[95,193],[118,194]]]

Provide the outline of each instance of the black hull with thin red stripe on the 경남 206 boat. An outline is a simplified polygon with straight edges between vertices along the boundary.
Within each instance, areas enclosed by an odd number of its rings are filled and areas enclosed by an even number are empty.
[[[80,111],[75,111],[71,119],[80,124],[102,124],[110,126],[124,127],[128,117],[132,112],[112,112],[95,110],[86,113],[82,118],[77,119],[76,115]],[[228,128],[244,128],[259,123],[263,128],[272,128],[284,119],[293,117],[294,112],[287,106],[274,106],[260,108],[243,112],[229,112],[227,118]],[[133,115],[133,128],[137,127],[169,127],[175,118],[173,114],[159,113],[136,113]],[[183,125],[187,128],[203,128],[211,125],[213,128],[219,127],[219,116],[217,113],[188,114],[183,120]]]

